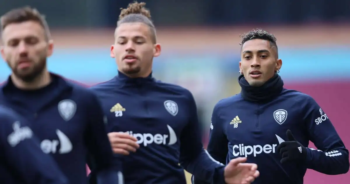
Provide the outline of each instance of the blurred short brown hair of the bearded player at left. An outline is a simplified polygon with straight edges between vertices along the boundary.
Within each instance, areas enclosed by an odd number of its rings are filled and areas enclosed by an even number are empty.
[[[6,26],[12,23],[22,23],[27,21],[35,21],[39,23],[45,30],[45,39],[48,41],[51,39],[50,29],[45,20],[45,16],[40,14],[39,11],[30,6],[25,6],[21,8],[15,8],[5,13],[0,18],[0,33],[6,28]]]

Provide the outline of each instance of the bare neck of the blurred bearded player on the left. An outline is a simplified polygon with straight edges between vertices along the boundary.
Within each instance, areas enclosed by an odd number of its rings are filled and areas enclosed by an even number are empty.
[[[40,75],[35,77],[33,81],[26,82],[11,74],[13,84],[19,89],[40,89],[50,84],[51,76],[48,71],[43,71]]]

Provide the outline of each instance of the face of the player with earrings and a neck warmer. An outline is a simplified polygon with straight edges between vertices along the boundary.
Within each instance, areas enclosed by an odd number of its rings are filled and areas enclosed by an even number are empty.
[[[243,44],[239,69],[250,86],[262,86],[281,68],[282,60],[276,58],[276,52],[267,40],[254,39]]]

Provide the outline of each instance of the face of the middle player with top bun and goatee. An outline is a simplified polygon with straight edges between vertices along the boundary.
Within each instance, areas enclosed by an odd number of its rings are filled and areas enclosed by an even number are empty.
[[[152,71],[153,57],[160,55],[160,45],[152,43],[151,31],[144,23],[122,23],[116,29],[111,57],[118,69],[130,76],[146,77]]]

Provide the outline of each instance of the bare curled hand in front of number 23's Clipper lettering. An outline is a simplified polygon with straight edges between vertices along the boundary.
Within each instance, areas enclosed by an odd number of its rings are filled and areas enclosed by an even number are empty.
[[[130,151],[135,152],[140,147],[137,138],[122,132],[108,133],[112,150],[115,154],[129,155]]]

